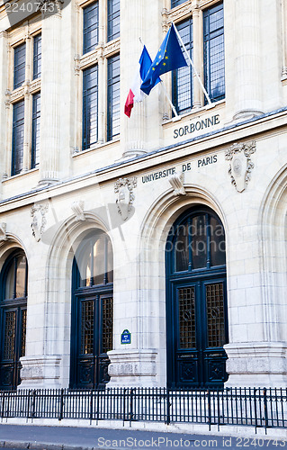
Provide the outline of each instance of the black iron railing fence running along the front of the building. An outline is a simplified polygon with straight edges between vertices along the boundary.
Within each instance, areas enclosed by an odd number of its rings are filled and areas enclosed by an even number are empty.
[[[0,417],[287,427],[287,389],[107,388],[0,392]]]

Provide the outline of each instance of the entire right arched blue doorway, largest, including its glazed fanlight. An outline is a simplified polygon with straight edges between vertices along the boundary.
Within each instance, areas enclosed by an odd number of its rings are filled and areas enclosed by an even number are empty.
[[[225,233],[210,209],[185,211],[166,241],[167,385],[222,386],[228,375]]]

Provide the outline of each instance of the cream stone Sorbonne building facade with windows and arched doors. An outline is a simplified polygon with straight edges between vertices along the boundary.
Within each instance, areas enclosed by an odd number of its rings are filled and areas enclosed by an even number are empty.
[[[28,4],[0,5],[1,389],[285,386],[286,0]],[[211,104],[181,68],[129,119],[171,23]]]

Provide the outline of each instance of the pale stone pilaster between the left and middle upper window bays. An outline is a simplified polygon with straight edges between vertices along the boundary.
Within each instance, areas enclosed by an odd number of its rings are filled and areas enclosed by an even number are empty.
[[[60,26],[61,15],[43,14],[40,121],[40,184],[58,179],[60,130]]]

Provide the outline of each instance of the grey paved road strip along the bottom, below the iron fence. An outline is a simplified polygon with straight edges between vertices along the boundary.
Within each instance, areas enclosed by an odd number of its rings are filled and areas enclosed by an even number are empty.
[[[217,448],[234,449],[249,447],[249,450],[278,450],[285,447],[284,437],[269,437],[264,434],[248,435],[241,428],[236,435],[212,436],[205,433],[137,430],[133,428],[86,428],[42,425],[13,425],[0,423],[0,450],[34,449],[34,450],[99,450],[99,449],[146,449],[146,448]],[[227,429],[223,433],[227,433]],[[227,433],[228,434],[228,433]]]

